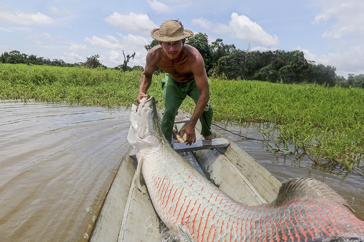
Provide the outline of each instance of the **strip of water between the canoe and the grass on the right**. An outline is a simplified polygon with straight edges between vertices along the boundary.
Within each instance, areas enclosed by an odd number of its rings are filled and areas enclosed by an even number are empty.
[[[355,210],[354,214],[364,220],[364,176],[347,172],[331,162],[318,165],[307,157],[269,152],[269,147],[264,144],[262,135],[258,133],[260,129],[258,124],[240,127],[222,123],[217,123],[217,125],[221,128],[218,126],[214,126],[214,128],[236,142],[281,182],[293,177],[310,177],[321,180],[343,196]],[[274,141],[270,145],[274,147]]]

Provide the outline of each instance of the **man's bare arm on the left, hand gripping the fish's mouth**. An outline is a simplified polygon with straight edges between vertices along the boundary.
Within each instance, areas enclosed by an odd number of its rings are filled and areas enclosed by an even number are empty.
[[[150,84],[152,83],[152,76],[155,69],[157,68],[155,63],[156,63],[156,53],[155,53],[155,48],[152,48],[147,54],[145,68],[140,77],[139,94],[137,97],[138,104],[140,104],[140,101],[143,97],[146,97],[147,90],[150,87]]]

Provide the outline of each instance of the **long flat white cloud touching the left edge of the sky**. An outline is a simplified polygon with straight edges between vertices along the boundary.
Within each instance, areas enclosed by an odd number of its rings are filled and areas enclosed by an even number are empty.
[[[0,21],[20,24],[20,25],[50,25],[54,23],[54,20],[43,13],[23,13],[17,12],[12,14],[9,12],[0,12]]]

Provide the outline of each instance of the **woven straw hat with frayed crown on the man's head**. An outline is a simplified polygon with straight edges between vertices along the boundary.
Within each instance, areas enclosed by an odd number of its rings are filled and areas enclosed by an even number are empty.
[[[193,36],[191,30],[185,30],[178,20],[166,20],[160,28],[155,28],[150,32],[153,39],[161,42],[174,42]]]

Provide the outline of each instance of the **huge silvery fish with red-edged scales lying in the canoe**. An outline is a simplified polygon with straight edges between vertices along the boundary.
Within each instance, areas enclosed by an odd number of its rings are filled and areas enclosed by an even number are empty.
[[[187,241],[364,241],[364,222],[341,196],[313,179],[289,180],[269,204],[234,201],[171,148],[153,97],[142,99],[136,109],[128,141],[137,171],[159,217]]]

